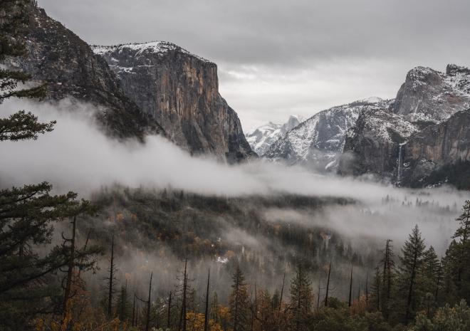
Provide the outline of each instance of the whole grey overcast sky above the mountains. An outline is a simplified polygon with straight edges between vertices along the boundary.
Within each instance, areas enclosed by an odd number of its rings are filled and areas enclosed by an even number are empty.
[[[219,67],[244,130],[470,66],[469,0],[38,0],[88,43],[164,40]]]

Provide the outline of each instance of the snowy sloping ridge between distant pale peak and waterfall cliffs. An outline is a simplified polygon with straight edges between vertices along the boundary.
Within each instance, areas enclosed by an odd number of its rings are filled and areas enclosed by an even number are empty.
[[[346,133],[360,112],[387,109],[391,103],[372,97],[318,112],[273,143],[263,157],[322,171],[335,169]]]

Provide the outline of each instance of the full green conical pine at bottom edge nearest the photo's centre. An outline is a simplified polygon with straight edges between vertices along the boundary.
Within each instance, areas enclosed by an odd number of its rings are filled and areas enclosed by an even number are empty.
[[[232,281],[229,298],[232,329],[245,331],[249,329],[249,296],[245,276],[238,265]]]

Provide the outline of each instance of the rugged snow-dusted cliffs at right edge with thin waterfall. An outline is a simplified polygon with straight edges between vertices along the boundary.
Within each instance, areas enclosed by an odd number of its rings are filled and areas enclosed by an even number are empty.
[[[444,165],[470,161],[470,70],[416,67],[390,109],[361,112],[339,171],[419,185]],[[459,122],[460,121],[460,122]]]

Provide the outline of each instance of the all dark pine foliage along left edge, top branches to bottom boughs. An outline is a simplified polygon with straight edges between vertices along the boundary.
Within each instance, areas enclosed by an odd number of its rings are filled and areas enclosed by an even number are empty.
[[[0,63],[25,53],[26,48],[17,36],[28,20],[25,15],[27,3],[27,0],[1,1]],[[0,104],[9,98],[42,97],[45,93],[42,85],[21,88],[20,84],[29,78],[29,75],[3,65],[0,69]],[[0,118],[0,142],[35,140],[38,135],[51,132],[54,124],[38,122],[31,112],[21,110]],[[53,246],[41,255],[38,246],[51,243],[53,224],[73,216],[73,207],[79,203],[75,201],[75,193],[52,196],[51,189],[50,184],[43,182],[0,191],[1,330],[23,329],[37,312],[58,309],[51,305],[62,303],[64,306],[68,301],[67,295],[61,295],[60,285],[52,275],[60,268],[70,268],[71,246]],[[81,261],[88,255],[88,252],[75,252],[73,260]]]

